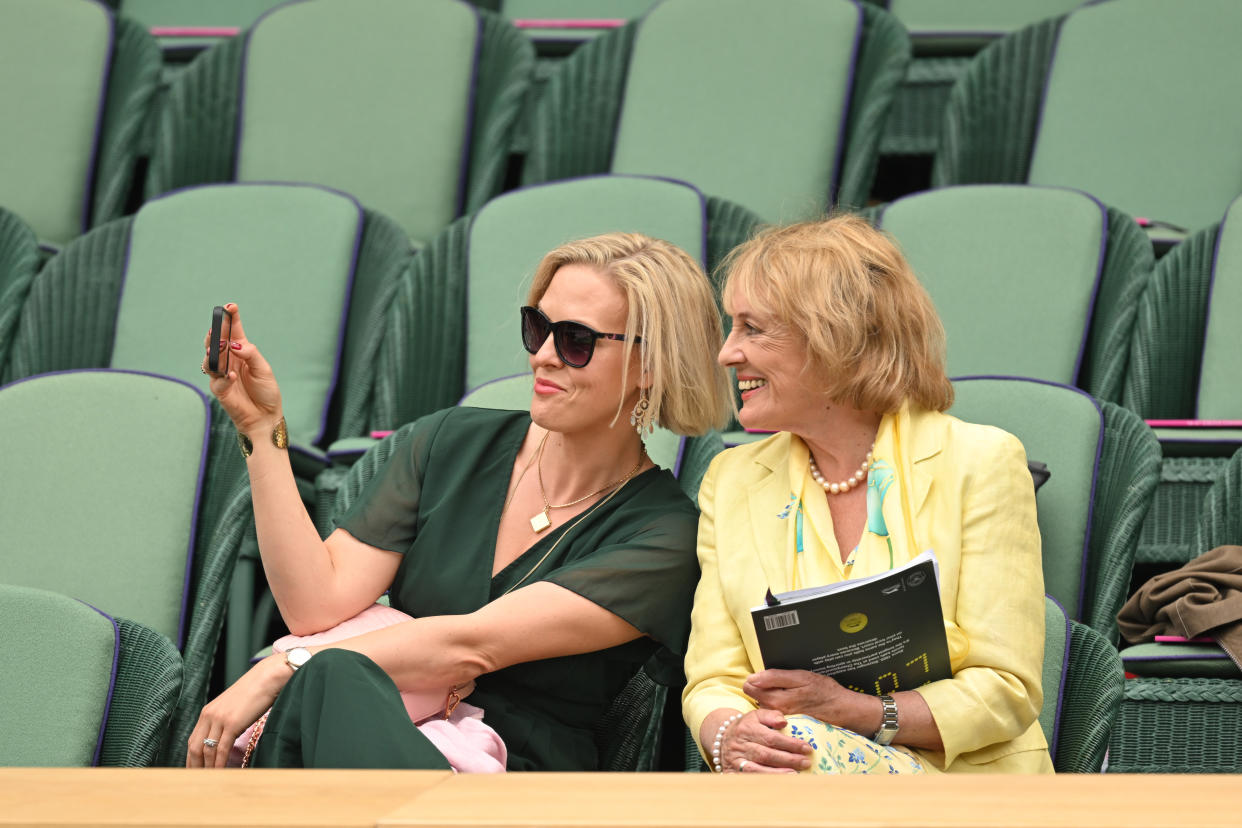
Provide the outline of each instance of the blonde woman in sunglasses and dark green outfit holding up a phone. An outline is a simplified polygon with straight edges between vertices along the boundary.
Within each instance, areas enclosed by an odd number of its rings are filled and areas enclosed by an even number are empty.
[[[327,540],[271,438],[272,369],[229,312],[232,369],[211,390],[253,443],[258,545],[289,629],[334,627],[385,591],[415,618],[263,659],[204,708],[188,765],[224,766],[272,706],[256,766],[447,767],[399,689],[473,680],[469,701],[504,739],[509,770],[594,768],[595,722],[688,632],[697,513],[640,434],[653,422],[703,433],[728,415],[699,266],[628,233],[548,253],[520,310],[529,415],[420,420]]]

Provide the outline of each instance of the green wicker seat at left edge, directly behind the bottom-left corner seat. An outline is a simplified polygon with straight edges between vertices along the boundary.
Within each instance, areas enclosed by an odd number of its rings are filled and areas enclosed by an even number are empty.
[[[0,482],[0,583],[62,592],[180,649],[163,756],[184,761],[248,523],[227,417],[168,377],[68,371],[0,389],[0,442],[21,469]]]

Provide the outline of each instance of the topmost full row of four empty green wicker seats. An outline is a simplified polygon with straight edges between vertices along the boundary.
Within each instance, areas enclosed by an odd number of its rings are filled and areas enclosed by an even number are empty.
[[[160,55],[138,24],[96,0],[4,14],[4,60],[55,68],[6,94],[31,125],[0,191],[57,245],[124,211],[144,153],[147,197],[314,181],[425,243],[503,187],[534,66],[519,30],[458,0],[308,0],[200,55],[153,110]],[[1242,190],[1242,115],[1220,106],[1238,22],[1230,0],[1108,0],[1000,38],[949,97],[933,182],[1071,186],[1163,240],[1212,223]],[[671,176],[765,221],[861,206],[909,57],[873,4],[667,0],[555,68],[523,180]]]

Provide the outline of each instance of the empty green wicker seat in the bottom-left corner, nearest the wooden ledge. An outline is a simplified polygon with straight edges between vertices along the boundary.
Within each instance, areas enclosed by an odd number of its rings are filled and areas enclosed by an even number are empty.
[[[150,765],[181,685],[173,643],[75,598],[0,583],[0,765]]]

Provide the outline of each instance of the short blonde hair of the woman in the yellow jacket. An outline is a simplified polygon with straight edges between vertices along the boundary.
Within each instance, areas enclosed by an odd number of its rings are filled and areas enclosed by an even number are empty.
[[[953,405],[940,317],[897,243],[867,221],[771,227],[723,267],[725,308],[740,290],[776,333],[806,343],[806,370],[832,402],[881,413]]]

